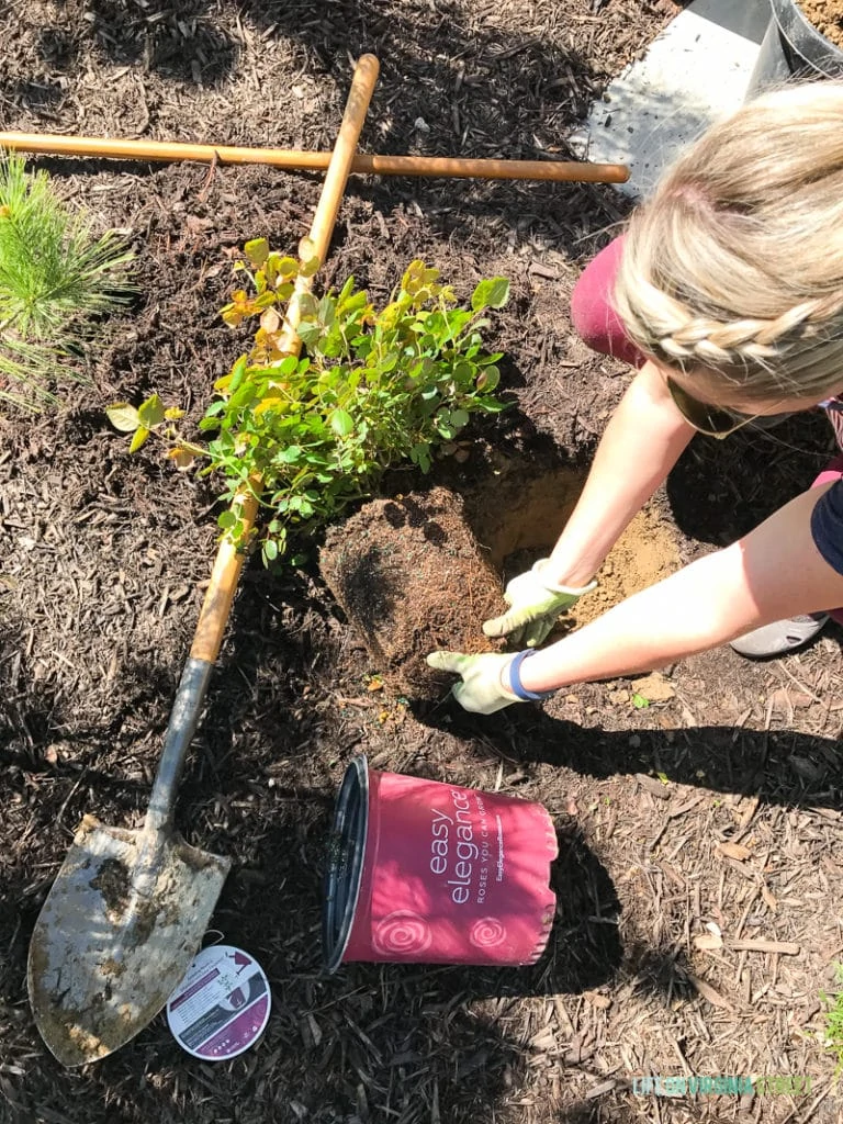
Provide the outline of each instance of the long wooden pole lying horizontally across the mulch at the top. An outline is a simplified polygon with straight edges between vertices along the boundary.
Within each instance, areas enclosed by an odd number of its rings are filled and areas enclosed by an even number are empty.
[[[112,140],[49,133],[0,133],[0,148],[56,156],[105,156],[112,160],[180,161],[209,164],[270,164],[318,172],[328,166],[329,152],[290,148],[242,148],[233,145],[187,144],[175,140]],[[588,164],[554,160],[469,160],[457,156],[390,156],[355,153],[351,172],[361,175],[414,175],[477,180],[546,180],[554,183],[624,183],[625,164]]]

